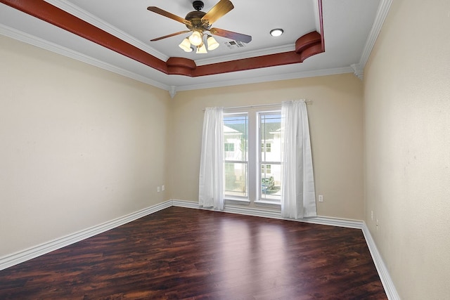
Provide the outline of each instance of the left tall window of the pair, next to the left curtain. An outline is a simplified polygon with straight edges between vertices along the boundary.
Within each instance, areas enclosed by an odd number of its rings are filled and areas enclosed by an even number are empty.
[[[248,115],[224,115],[225,195],[248,197]]]

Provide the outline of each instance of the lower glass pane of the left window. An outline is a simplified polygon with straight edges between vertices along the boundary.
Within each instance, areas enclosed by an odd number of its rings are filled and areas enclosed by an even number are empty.
[[[246,163],[225,163],[225,195],[248,197]]]

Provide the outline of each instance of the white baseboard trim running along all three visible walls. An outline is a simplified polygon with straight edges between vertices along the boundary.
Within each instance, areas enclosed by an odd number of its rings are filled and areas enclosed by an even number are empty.
[[[104,233],[110,229],[116,228],[118,226],[124,225],[136,219],[142,218],[143,216],[148,216],[149,214],[153,214],[162,209],[166,209],[168,207],[186,207],[190,209],[205,209],[203,207],[199,207],[197,202],[185,201],[185,200],[167,200],[160,204],[153,205],[152,207],[148,207],[146,209],[141,209],[132,214],[127,214],[126,216],[122,216],[120,218],[114,219],[112,221],[108,221],[105,223],[101,223],[100,225],[93,226],[91,228],[87,228],[84,230],[80,230],[77,233],[72,233],[70,235],[66,235],[65,237],[60,237],[56,240],[52,240],[50,242],[46,242],[44,244],[39,244],[35,247],[31,247],[29,249],[25,249],[20,252],[15,252],[13,254],[4,256],[0,258],[0,270],[4,270],[11,266],[14,266],[18,263],[23,263],[30,259],[34,259],[37,256],[41,256],[43,254],[52,252],[56,249],[63,248],[70,244],[74,244],[75,242],[79,242],[85,240],[88,237],[92,237],[94,235],[98,235],[99,233]],[[210,209],[206,209],[210,210]],[[280,211],[276,209],[259,209],[255,207],[240,207],[239,205],[227,205],[224,212],[230,214],[243,214],[247,216],[260,216],[264,218],[271,219],[284,219],[288,221],[299,221],[306,223],[314,223],[328,226],[338,226],[338,227],[346,227],[346,228],[356,228],[361,229],[364,237],[366,238],[366,243],[369,251],[371,252],[371,256],[373,259],[373,263],[375,263],[375,268],[378,271],[378,275],[380,276],[380,280],[383,283],[383,287],[385,288],[385,292],[387,294],[387,298],[390,300],[400,299],[399,294],[397,294],[397,289],[394,287],[394,283],[390,278],[390,275],[387,271],[385,263],[380,256],[380,252],[375,245],[375,241],[373,240],[371,233],[369,232],[366,223],[364,221],[356,221],[356,220],[346,220],[346,219],[335,219],[324,216],[318,216],[316,218],[308,218],[308,219],[285,219],[281,217]]]

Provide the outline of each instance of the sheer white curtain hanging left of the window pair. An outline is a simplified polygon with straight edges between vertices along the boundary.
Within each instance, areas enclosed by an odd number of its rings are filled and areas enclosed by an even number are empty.
[[[198,190],[200,207],[224,210],[224,110],[222,107],[205,109]]]

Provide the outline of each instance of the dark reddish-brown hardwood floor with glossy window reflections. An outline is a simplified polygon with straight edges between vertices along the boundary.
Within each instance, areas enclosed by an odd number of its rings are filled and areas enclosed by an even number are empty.
[[[0,299],[387,299],[361,230],[170,207],[0,271]]]

